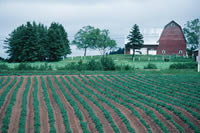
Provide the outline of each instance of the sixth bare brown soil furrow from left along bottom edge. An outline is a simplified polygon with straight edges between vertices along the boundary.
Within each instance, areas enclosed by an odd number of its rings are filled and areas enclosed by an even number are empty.
[[[58,78],[59,82],[62,84],[63,88],[65,89],[65,91],[68,93],[68,95],[70,95],[73,100],[77,103],[78,107],[80,108],[81,112],[84,115],[84,121],[87,121],[88,123],[88,129],[92,132],[92,133],[96,133],[97,129],[95,127],[95,124],[92,122],[88,112],[83,108],[83,106],[81,105],[81,103],[79,101],[76,100],[76,98],[74,98],[74,96],[68,91],[68,89],[66,88],[66,86],[63,84],[63,82],[61,81],[60,78]],[[65,81],[67,83],[69,83],[66,79]],[[69,84],[70,85],[70,84]]]

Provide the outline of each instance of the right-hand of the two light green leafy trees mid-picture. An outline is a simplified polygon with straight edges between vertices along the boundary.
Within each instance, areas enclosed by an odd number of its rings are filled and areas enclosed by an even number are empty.
[[[106,52],[108,52],[112,48],[115,48],[116,45],[117,45],[116,41],[112,40],[109,37],[108,30],[102,30],[97,35],[97,41],[95,44],[95,48],[97,48],[100,51],[100,53],[101,53],[101,55],[103,55],[103,57],[106,54]]]

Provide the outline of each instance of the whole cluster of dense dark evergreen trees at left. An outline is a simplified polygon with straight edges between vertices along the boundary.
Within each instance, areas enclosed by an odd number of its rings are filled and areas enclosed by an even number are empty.
[[[47,29],[43,24],[27,22],[17,27],[5,44],[12,62],[58,61],[71,53],[67,33],[56,23]]]

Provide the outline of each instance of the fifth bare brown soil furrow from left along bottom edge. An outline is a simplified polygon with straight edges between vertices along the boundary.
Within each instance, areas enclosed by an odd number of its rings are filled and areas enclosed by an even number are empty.
[[[60,97],[60,100],[62,101],[65,109],[67,110],[68,117],[69,117],[69,123],[70,127],[73,133],[82,133],[82,129],[80,126],[80,120],[76,117],[75,112],[72,108],[72,106],[69,104],[61,90],[59,89],[58,85],[56,84],[54,78],[51,76],[51,80],[53,82],[54,88],[56,89],[57,94]]]

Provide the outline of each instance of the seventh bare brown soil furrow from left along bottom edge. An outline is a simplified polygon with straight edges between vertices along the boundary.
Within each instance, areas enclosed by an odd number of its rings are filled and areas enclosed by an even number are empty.
[[[69,76],[71,78],[71,76]],[[78,85],[72,78],[71,80]],[[93,109],[94,113],[96,114],[96,116],[99,118],[100,122],[103,125],[103,130],[106,133],[111,133],[114,132],[112,127],[110,126],[110,123],[107,121],[107,119],[105,118],[104,114],[102,113],[102,111],[95,105],[93,104],[93,102],[91,102],[87,97],[85,97],[84,95],[82,95],[74,86],[72,86],[74,91],[76,91],[76,93],[81,96],[89,105],[90,107]],[[80,87],[80,86],[79,86]]]

